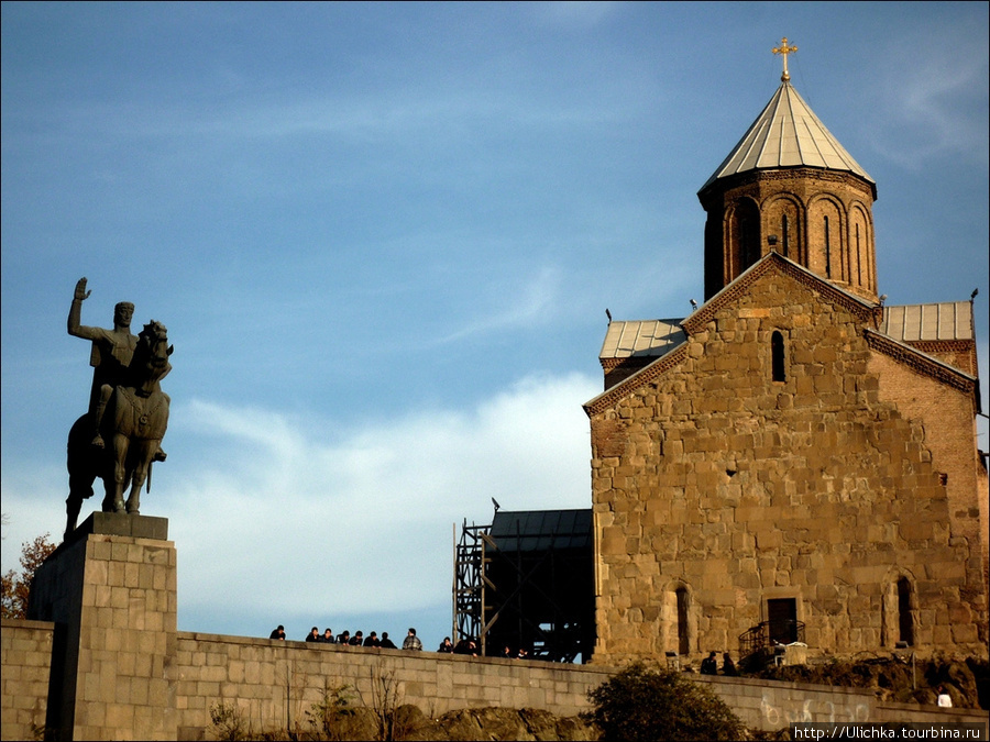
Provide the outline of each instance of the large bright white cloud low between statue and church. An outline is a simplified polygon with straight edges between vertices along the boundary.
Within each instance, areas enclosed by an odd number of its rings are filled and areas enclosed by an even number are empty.
[[[194,402],[179,416],[186,432],[217,438],[224,454],[168,475],[180,605],[208,610],[219,586],[245,610],[442,603],[452,524],[486,520],[490,498],[507,510],[590,507],[581,405],[597,387],[581,375],[527,378],[474,410],[407,414],[336,438],[270,411]]]

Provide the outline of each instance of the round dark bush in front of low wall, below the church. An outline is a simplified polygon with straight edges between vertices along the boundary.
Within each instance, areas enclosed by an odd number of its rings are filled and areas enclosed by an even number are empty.
[[[679,673],[641,663],[588,691],[594,710],[584,716],[602,740],[738,740],[743,722],[713,690]]]

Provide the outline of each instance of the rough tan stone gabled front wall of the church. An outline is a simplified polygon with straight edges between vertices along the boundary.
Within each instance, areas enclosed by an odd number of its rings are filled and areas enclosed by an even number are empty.
[[[912,644],[986,656],[979,544],[943,484],[972,481],[972,456],[933,453],[925,421],[881,395],[869,310],[771,261],[684,326],[680,351],[587,406],[594,662],[682,635],[694,657],[736,652],[771,599],[794,600],[812,656],[892,647],[902,577]]]

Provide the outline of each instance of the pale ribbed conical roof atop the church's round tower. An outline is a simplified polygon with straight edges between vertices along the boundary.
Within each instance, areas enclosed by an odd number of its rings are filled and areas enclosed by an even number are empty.
[[[876,189],[876,181],[825,129],[785,79],[701,190],[737,173],[802,166],[853,173]]]

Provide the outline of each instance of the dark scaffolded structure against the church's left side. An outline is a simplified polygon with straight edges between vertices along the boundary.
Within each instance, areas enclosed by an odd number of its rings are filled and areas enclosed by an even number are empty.
[[[591,510],[498,512],[461,528],[454,553],[454,634],[482,654],[519,649],[587,662],[594,646]]]

